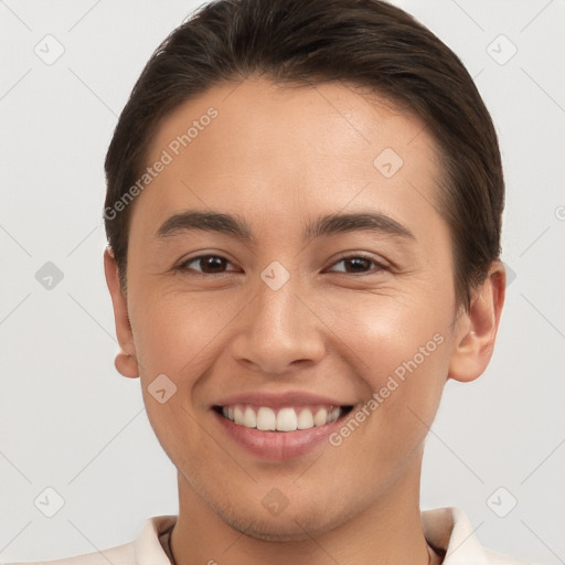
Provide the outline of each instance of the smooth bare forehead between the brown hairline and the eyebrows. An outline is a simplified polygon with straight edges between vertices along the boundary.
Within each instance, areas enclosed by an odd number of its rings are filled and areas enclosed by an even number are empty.
[[[161,218],[191,205],[253,203],[281,217],[375,199],[394,215],[423,200],[429,207],[438,174],[434,140],[414,113],[353,85],[266,78],[215,86],[177,107],[147,164],[159,160],[168,163],[141,200]]]

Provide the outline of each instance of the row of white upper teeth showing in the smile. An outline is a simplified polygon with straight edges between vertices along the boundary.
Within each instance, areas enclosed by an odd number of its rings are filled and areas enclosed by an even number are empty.
[[[285,407],[279,408],[278,412],[268,406],[243,404],[222,407],[223,415],[239,426],[277,431],[295,431],[296,429],[323,426],[337,420],[341,412],[340,407],[333,406],[321,406],[313,409],[309,407]]]

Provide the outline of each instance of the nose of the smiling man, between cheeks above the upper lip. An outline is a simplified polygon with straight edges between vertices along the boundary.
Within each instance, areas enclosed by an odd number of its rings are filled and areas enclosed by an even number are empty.
[[[259,280],[242,312],[233,354],[247,370],[284,375],[318,363],[324,355],[323,312],[297,277],[273,289]],[[319,303],[319,302],[318,302]]]

